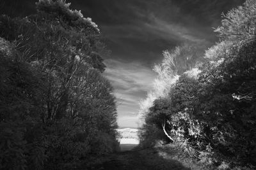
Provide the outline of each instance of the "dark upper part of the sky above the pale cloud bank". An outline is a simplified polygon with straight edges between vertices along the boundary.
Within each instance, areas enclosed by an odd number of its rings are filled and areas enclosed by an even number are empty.
[[[76,0],[74,8],[92,17],[108,39],[112,59],[151,66],[166,48],[189,41],[211,45],[221,12],[241,0]],[[83,4],[83,6],[82,6]]]

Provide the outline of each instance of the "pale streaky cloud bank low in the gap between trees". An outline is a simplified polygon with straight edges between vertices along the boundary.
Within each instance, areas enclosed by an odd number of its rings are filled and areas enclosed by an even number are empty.
[[[104,76],[111,81],[118,99],[118,120],[135,118],[140,108],[140,100],[152,89],[156,73],[150,67],[140,62],[107,59],[104,61],[107,69]],[[131,122],[131,120],[129,120]],[[138,122],[138,117],[136,122]]]

